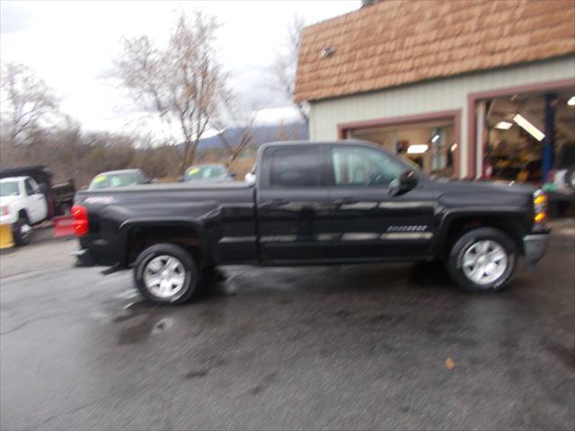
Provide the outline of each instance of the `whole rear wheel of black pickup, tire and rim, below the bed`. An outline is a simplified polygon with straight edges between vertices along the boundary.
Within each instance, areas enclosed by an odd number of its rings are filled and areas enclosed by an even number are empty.
[[[155,244],[137,257],[134,281],[151,303],[185,303],[198,286],[198,269],[190,253],[180,246]]]

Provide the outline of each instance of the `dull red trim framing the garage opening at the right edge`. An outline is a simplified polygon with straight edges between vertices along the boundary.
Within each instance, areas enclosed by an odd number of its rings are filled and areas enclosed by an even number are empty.
[[[477,141],[475,139],[476,129],[475,129],[475,114],[477,101],[482,101],[486,99],[495,99],[498,97],[512,96],[513,94],[525,94],[527,92],[551,92],[565,90],[570,87],[574,87],[575,90],[575,78],[562,79],[560,81],[551,81],[548,83],[539,84],[529,84],[521,85],[517,87],[507,87],[500,88],[498,90],[491,90],[488,92],[473,92],[467,95],[467,177],[475,178],[475,166],[477,154]],[[483,147],[480,148],[480,160],[483,157]]]

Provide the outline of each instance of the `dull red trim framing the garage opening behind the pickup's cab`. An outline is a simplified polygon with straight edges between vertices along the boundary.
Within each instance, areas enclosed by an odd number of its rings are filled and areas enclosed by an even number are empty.
[[[426,112],[423,114],[391,117],[386,119],[370,119],[367,121],[341,123],[338,124],[338,137],[340,139],[345,139],[349,130],[357,130],[358,128],[404,126],[421,123],[423,121],[435,121],[442,119],[450,119],[454,122],[454,138],[456,140],[457,147],[454,154],[453,172],[454,177],[459,178],[459,166],[461,163],[461,110],[442,110],[438,112]]]

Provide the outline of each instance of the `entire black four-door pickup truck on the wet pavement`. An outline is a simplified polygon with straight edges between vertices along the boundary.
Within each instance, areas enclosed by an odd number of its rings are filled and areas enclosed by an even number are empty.
[[[154,303],[181,303],[217,265],[438,260],[496,291],[544,255],[545,196],[526,185],[433,180],[360,141],[263,145],[255,184],[80,191],[83,265],[134,268]]]

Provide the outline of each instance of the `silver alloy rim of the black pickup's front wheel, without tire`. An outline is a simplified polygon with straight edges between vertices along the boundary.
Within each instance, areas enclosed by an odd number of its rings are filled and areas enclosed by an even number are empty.
[[[490,285],[501,277],[508,264],[505,249],[498,242],[491,240],[473,242],[461,260],[465,277],[480,286]]]

